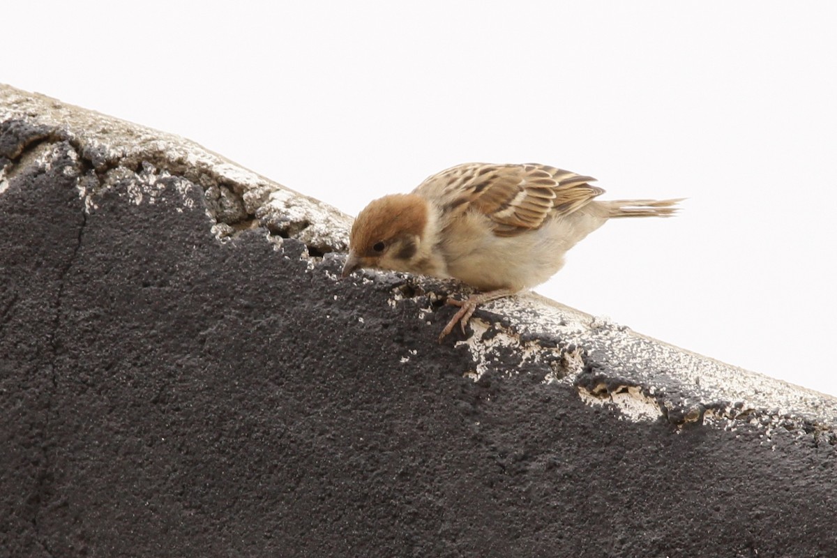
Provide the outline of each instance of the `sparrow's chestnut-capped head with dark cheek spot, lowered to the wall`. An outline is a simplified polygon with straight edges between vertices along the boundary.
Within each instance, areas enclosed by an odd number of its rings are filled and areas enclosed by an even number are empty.
[[[428,202],[415,194],[373,200],[357,214],[343,277],[362,268],[419,271],[419,248],[429,218]]]

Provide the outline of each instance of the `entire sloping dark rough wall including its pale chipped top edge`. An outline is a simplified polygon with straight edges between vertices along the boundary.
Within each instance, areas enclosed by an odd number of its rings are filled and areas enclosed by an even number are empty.
[[[833,398],[537,295],[439,345],[326,204],[8,87],[0,167],[0,555],[837,555]]]

